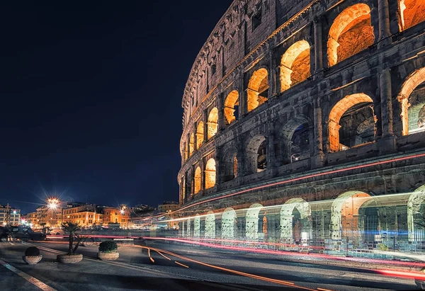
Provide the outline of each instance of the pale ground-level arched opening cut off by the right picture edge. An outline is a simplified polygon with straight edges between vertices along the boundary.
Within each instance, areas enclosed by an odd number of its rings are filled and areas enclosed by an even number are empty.
[[[425,185],[409,195],[407,229],[409,241],[425,241]]]

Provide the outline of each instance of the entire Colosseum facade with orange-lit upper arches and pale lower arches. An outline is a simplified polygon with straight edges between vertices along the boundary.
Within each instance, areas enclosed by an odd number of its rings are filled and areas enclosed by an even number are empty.
[[[182,107],[181,236],[425,246],[425,1],[234,0]]]

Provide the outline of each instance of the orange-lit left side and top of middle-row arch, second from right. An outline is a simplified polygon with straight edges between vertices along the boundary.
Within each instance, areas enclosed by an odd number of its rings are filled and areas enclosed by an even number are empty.
[[[341,144],[339,143],[339,128],[341,125],[339,125],[339,120],[341,120],[342,115],[349,108],[361,103],[373,104],[373,100],[365,93],[356,93],[345,96],[332,108],[331,113],[329,113],[329,152],[337,152],[341,149]]]

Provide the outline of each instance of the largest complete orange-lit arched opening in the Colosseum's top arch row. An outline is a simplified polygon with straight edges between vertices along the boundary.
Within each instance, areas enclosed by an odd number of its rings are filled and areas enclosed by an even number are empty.
[[[375,42],[370,7],[355,4],[342,11],[332,23],[327,42],[329,67],[365,50]]]

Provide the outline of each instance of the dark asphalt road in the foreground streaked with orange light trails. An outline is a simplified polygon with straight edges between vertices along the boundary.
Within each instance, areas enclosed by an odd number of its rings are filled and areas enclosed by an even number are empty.
[[[194,248],[148,241],[146,246],[120,246],[115,262],[96,259],[97,246],[81,246],[84,260],[57,263],[66,244],[31,243],[43,259],[23,263],[28,247],[0,244],[0,260],[54,290],[414,290],[414,280],[387,277],[371,270],[293,263],[276,256]],[[21,274],[22,275],[22,274]],[[40,290],[0,266],[0,290]],[[48,290],[48,289],[44,289]]]

